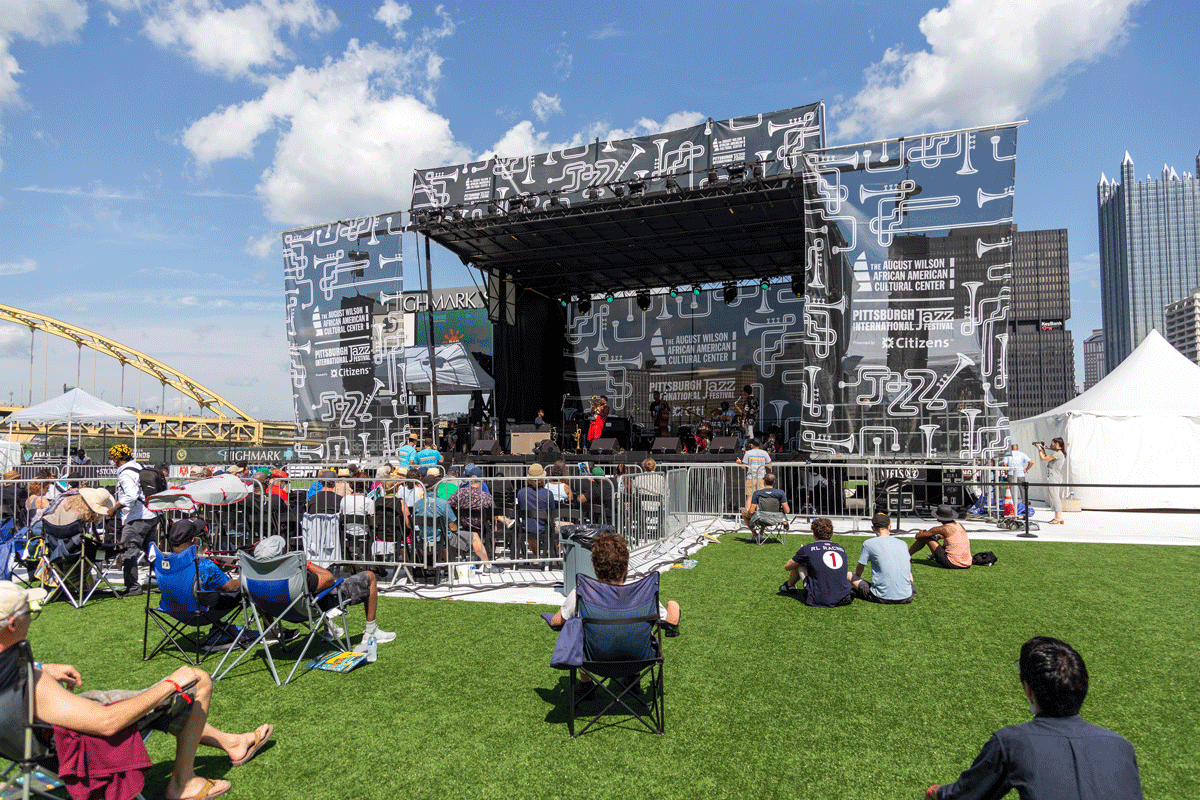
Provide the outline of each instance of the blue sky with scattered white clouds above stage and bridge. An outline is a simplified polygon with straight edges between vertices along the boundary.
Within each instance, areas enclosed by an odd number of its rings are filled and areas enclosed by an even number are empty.
[[[288,419],[280,230],[404,209],[415,168],[824,100],[830,144],[1028,119],[1016,222],[1069,230],[1081,381],[1096,184],[1126,150],[1142,179],[1195,170],[1198,18],[1128,0],[4,0],[0,302]],[[434,283],[470,277],[436,253]],[[77,371],[119,398],[115,365],[42,354],[38,336],[35,402]],[[29,357],[28,330],[0,325],[5,402],[28,398]],[[149,379],[140,397],[161,402]]]

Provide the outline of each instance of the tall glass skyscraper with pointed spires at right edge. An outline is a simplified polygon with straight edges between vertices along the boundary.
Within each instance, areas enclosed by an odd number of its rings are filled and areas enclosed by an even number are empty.
[[[1159,180],[1136,181],[1126,152],[1120,184],[1100,174],[1097,206],[1104,362],[1111,372],[1146,333],[1163,330],[1168,303],[1200,285],[1200,179],[1164,164]]]

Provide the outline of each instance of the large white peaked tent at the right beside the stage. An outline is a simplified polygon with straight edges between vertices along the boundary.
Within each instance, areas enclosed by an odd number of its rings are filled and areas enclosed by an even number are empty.
[[[1200,366],[1151,331],[1116,369],[1058,408],[1012,423],[1014,441],[1034,459],[1034,441],[1067,443],[1069,483],[1200,486]],[[1034,498],[1044,498],[1031,487]],[[1200,509],[1200,489],[1075,487],[1084,509]]]

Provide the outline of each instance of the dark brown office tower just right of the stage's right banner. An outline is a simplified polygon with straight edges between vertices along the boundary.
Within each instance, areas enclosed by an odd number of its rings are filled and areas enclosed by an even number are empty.
[[[1021,420],[1075,396],[1066,229],[1013,225],[1013,301],[1008,320],[1008,419]]]

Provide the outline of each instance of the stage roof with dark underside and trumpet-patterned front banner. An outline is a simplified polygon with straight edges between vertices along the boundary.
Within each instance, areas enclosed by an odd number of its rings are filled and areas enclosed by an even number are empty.
[[[802,154],[823,106],[419,170],[410,228],[548,296],[803,272]]]

